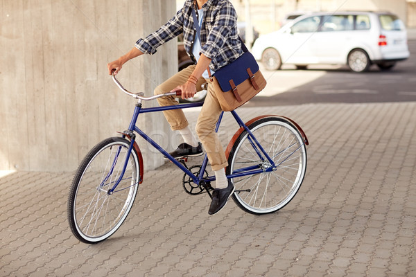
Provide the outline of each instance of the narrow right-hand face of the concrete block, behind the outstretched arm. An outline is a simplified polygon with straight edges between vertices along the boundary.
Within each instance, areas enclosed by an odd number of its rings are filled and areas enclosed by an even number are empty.
[[[171,0],[144,1],[141,4],[142,15],[153,15],[152,17],[141,17],[139,24],[144,30],[142,37],[157,30],[168,19],[175,15],[176,4]],[[140,76],[139,84],[144,84],[143,91],[147,96],[153,95],[155,87],[167,80],[177,72],[177,40],[164,44],[157,48],[155,55],[141,56],[137,59],[137,74]],[[168,91],[166,91],[168,92]],[[144,102],[144,107],[157,106],[157,101]],[[139,117],[137,126],[145,130],[152,139],[165,149],[173,150],[177,146],[176,132],[171,131],[162,112],[143,114]],[[163,156],[150,144],[140,138],[139,147],[144,155],[145,169],[154,169],[162,166]]]

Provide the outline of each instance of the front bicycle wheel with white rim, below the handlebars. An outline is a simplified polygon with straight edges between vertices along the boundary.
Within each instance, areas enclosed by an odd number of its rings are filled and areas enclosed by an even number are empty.
[[[105,139],[80,163],[69,192],[68,221],[81,242],[109,238],[130,212],[140,181],[140,166],[134,148],[127,157],[129,146],[127,139]],[[120,177],[118,186],[110,192]]]

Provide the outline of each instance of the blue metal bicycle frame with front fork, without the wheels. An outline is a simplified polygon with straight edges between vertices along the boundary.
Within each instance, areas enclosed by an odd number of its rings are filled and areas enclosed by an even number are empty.
[[[143,139],[145,139],[148,143],[150,143],[150,145],[152,145],[155,149],[157,149],[159,152],[164,154],[164,156],[166,158],[168,158],[172,163],[174,163],[175,166],[180,168],[185,174],[187,174],[189,177],[191,177],[193,182],[195,184],[198,184],[198,185],[200,184],[200,181],[202,181],[202,180],[205,181],[205,182],[215,181],[215,176],[203,178],[205,168],[207,168],[207,164],[208,164],[207,154],[205,154],[205,158],[202,162],[202,166],[201,166],[201,169],[200,169],[200,174],[198,176],[196,176],[188,168],[186,168],[184,165],[182,165],[182,163],[180,163],[180,161],[177,161],[175,158],[173,158],[171,156],[171,154],[169,154],[168,152],[166,152],[166,150],[164,150],[164,148],[162,148],[159,144],[157,144],[155,141],[153,141],[153,139],[151,139],[147,134],[145,134],[143,131],[141,131],[141,129],[139,129],[136,126],[136,123],[137,123],[137,118],[139,117],[139,114],[146,114],[146,113],[156,112],[156,111],[168,111],[168,110],[171,110],[171,109],[187,109],[187,108],[191,108],[191,107],[201,107],[202,105],[203,105],[203,102],[196,102],[196,103],[173,105],[173,106],[142,108],[141,100],[139,100],[139,102],[137,102],[137,105],[135,107],[135,111],[133,113],[132,120],[131,120],[129,128],[128,128],[129,132],[133,132],[133,131],[136,132]],[[224,112],[221,112],[220,117],[218,118],[218,122],[216,123],[215,132],[218,132],[221,120],[223,119],[223,114],[224,114]],[[269,157],[267,152],[260,145],[259,141],[257,141],[257,139],[255,138],[254,134],[252,134],[252,132],[250,131],[248,126],[246,126],[245,123],[243,123],[243,120],[241,120],[241,118],[236,113],[236,111],[231,111],[231,114],[232,114],[232,116],[234,116],[234,119],[239,124],[239,126],[243,127],[245,129],[245,131],[248,132],[250,144],[252,145],[252,147],[253,147],[254,151],[257,153],[257,155],[259,155],[259,158],[262,161],[267,160],[270,163],[270,166],[268,168],[259,168],[259,166],[250,166],[250,167],[247,167],[247,168],[241,168],[239,170],[239,172],[234,173],[232,175],[227,175],[227,179],[234,178],[234,177],[242,177],[242,176],[247,176],[247,175],[254,175],[254,174],[261,173],[261,172],[270,172],[270,171],[276,170],[276,166],[275,166],[274,161]],[[125,137],[125,134],[123,134],[123,137]],[[116,186],[120,183],[121,179],[123,179],[125,168],[127,167],[127,163],[128,163],[128,158],[130,157],[130,152],[132,151],[132,145],[134,143],[135,143],[135,136],[132,136],[130,138],[130,148],[128,149],[128,152],[127,152],[126,160],[125,160],[125,163],[124,163],[124,166],[123,166],[123,171],[122,171],[122,173],[119,177],[119,180],[117,180],[116,183],[114,184],[114,186],[112,187],[112,189],[108,191],[109,194],[114,192],[114,190],[116,189]]]

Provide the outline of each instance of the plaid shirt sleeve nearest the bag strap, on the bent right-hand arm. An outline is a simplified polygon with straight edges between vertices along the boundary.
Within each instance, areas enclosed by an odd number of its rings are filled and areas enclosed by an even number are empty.
[[[213,60],[229,37],[232,28],[237,24],[237,13],[234,7],[225,4],[214,18],[214,26],[209,32],[207,43],[202,46],[201,53]]]

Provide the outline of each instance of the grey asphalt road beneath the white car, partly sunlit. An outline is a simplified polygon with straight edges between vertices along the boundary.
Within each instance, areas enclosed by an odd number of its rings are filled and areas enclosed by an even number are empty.
[[[302,105],[309,103],[358,103],[416,101],[416,40],[409,40],[410,58],[390,71],[373,65],[367,73],[347,66],[310,66],[295,70],[284,66],[266,71],[268,85],[246,107]]]

